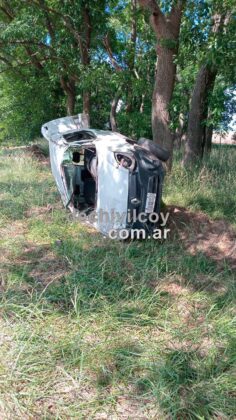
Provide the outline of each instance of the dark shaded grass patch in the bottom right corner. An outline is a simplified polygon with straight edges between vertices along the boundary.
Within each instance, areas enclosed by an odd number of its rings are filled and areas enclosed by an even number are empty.
[[[203,358],[197,351],[169,350],[147,367],[146,375],[136,382],[137,391],[155,395],[170,418],[210,419],[219,413],[232,418],[234,395],[226,392],[224,383],[226,375],[232,374],[231,353],[231,345],[224,358],[220,354]]]

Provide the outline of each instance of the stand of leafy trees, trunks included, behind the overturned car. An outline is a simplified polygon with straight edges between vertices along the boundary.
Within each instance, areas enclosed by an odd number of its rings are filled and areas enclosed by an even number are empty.
[[[173,149],[191,131],[204,66],[214,81],[199,124],[227,130],[234,13],[233,0],[1,0],[1,138],[28,141],[43,122],[84,112],[91,126]]]

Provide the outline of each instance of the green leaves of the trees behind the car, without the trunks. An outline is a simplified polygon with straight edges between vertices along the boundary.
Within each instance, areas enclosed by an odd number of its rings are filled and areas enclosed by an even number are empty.
[[[159,4],[168,16],[174,1]],[[92,125],[103,128],[108,123],[111,102],[118,95],[123,104],[116,115],[118,129],[134,137],[151,136],[156,36],[150,28],[148,15],[137,3],[135,7],[135,2],[127,0],[79,0],[75,7],[69,0],[12,0],[10,3],[2,0],[1,5],[0,72],[3,90],[0,109],[1,120],[9,127],[9,132],[14,119],[19,121],[16,124],[18,134],[15,130],[14,135],[22,136],[22,114],[26,115],[32,108],[37,110],[35,115],[42,115],[42,120],[48,119],[47,114],[55,117],[65,114],[66,96],[60,86],[60,78],[64,77],[75,80],[76,112],[82,111],[83,91],[91,92]],[[86,46],[87,34],[85,7],[89,10],[87,30],[90,29],[91,35],[87,48],[89,64],[86,66],[81,59],[81,45]],[[227,17],[219,34],[212,31],[212,17],[216,13]],[[173,130],[178,127],[180,114],[187,120],[194,79],[203,63],[216,67],[219,74],[211,100],[214,124],[220,124],[222,118],[228,121],[224,110],[231,115],[232,106],[227,108],[231,99],[224,92],[233,86],[235,79],[233,13],[233,0],[186,2],[175,58],[177,80],[171,104]],[[110,55],[104,46],[106,35]],[[160,44],[171,49],[177,47],[172,41],[161,40]],[[120,71],[112,64],[111,57]],[[41,90],[38,104],[37,86]],[[16,102],[12,99],[13,93]],[[21,115],[18,116],[17,112]],[[32,130],[26,137],[39,130],[36,129],[39,127],[38,116],[34,120],[31,113],[29,124]]]

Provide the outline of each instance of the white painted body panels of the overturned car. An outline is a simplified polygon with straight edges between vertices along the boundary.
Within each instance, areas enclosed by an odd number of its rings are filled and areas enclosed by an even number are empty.
[[[102,233],[108,234],[111,229],[122,229],[126,226],[125,220],[111,217],[112,212],[127,213],[128,206],[128,169],[119,165],[115,159],[115,152],[128,153],[132,145],[127,143],[126,137],[120,133],[94,130],[86,126],[83,116],[64,117],[50,121],[42,126],[42,135],[49,141],[50,162],[52,174],[55,178],[62,201],[66,206],[70,199],[62,173],[64,154],[73,145],[79,142],[68,143],[64,134],[86,129],[96,135],[95,140],[88,140],[88,145],[93,144],[97,153],[97,215],[101,212],[109,216],[109,220],[97,220],[95,227]],[[71,206],[69,208],[72,210]]]

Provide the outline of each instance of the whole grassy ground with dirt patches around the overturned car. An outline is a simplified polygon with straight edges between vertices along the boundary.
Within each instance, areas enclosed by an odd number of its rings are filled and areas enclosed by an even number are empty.
[[[236,151],[166,179],[167,241],[71,219],[46,159],[0,152],[0,418],[235,418]]]

